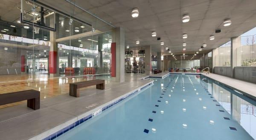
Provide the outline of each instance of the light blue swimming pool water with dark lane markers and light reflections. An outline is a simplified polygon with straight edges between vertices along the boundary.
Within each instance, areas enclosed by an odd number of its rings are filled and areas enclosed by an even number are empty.
[[[59,140],[253,140],[256,107],[196,75],[154,85],[57,137]]]

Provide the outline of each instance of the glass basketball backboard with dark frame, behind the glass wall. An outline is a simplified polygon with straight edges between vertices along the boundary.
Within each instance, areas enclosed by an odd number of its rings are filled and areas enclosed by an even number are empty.
[[[37,0],[21,0],[20,22],[44,30],[56,31],[55,12]]]

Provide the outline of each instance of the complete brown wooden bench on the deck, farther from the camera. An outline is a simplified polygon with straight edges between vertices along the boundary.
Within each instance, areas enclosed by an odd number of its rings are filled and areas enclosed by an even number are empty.
[[[95,79],[89,81],[81,81],[70,83],[70,96],[79,97],[80,88],[96,85],[96,89],[105,89],[105,80]]]

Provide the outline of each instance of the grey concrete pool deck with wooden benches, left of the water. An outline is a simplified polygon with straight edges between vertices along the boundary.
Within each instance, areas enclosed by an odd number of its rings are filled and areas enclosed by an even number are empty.
[[[26,104],[0,109],[0,139],[44,139],[151,83],[150,79],[111,82],[105,84],[105,90],[98,90],[95,86],[82,90],[79,98],[63,94],[41,100],[39,110],[27,108]]]

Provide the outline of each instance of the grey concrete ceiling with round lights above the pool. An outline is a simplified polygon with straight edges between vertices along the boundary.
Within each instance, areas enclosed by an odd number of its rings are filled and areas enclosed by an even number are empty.
[[[9,1],[9,0],[3,0]],[[10,0],[15,3],[16,0]],[[74,17],[90,22],[65,0],[39,0]],[[152,52],[181,52],[186,42],[186,51],[197,51],[203,43],[207,48],[217,48],[230,40],[256,27],[256,0],[70,0],[112,25],[125,28],[125,45],[138,47],[151,45]],[[1,2],[2,3],[2,2]],[[68,7],[68,8],[67,8]],[[2,7],[1,7],[2,8]],[[131,17],[132,8],[138,8],[140,15]],[[1,10],[3,11],[3,10]],[[190,15],[190,21],[182,23],[183,14]],[[224,19],[230,18],[232,25],[224,27]],[[215,29],[221,33],[215,34]],[[151,32],[156,31],[164,45],[160,45]],[[188,38],[182,39],[187,33]],[[209,36],[215,35],[210,41]],[[136,40],[140,44],[136,45]]]

